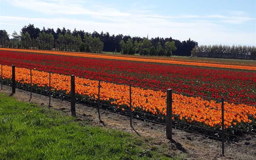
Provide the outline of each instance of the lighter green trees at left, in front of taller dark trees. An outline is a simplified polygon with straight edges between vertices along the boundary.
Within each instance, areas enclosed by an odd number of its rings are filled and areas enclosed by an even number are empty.
[[[12,39],[9,39],[9,35],[5,30],[0,30],[1,34],[1,46],[10,48],[25,48],[25,49],[40,49],[40,50],[65,50],[65,51],[81,51],[81,52],[95,52],[100,53],[103,50],[103,43],[99,38],[92,38],[91,36],[85,36],[84,42],[80,35],[77,37],[70,33],[61,33],[55,40],[54,36],[50,33],[40,32],[38,37],[34,38],[29,35],[28,32],[13,32]]]

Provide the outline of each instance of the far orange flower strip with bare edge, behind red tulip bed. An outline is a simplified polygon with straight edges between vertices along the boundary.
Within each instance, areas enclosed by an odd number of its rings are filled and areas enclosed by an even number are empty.
[[[232,69],[256,71],[255,61],[236,61],[236,60],[222,60],[222,59],[214,60],[214,59],[205,59],[205,58],[202,59],[202,58],[184,58],[184,57],[179,58],[179,57],[159,57],[159,56],[111,55],[111,54],[99,54],[99,53],[24,50],[24,49],[12,49],[12,48],[0,48],[0,50],[87,57],[87,58],[103,58],[103,59],[125,60],[125,61],[166,63],[166,64],[187,65],[187,66],[232,68]]]

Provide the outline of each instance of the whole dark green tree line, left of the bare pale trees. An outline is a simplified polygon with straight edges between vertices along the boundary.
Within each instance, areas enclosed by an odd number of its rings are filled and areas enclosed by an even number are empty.
[[[191,50],[198,45],[190,38],[180,41],[169,38],[131,37],[127,35],[110,35],[109,32],[92,33],[84,30],[71,32],[69,29],[43,27],[40,30],[33,24],[25,25],[20,34],[12,33],[12,38],[5,30],[0,30],[1,47],[26,48],[40,50],[62,50],[80,52],[120,52],[122,54],[159,55],[159,56],[190,56]]]

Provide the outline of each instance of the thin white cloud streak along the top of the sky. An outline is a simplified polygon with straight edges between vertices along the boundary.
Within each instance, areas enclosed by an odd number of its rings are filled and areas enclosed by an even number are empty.
[[[244,22],[255,20],[253,18],[245,16],[246,13],[243,11],[229,11],[231,16],[223,15],[174,15],[174,16],[163,16],[156,14],[143,14],[150,13],[148,8],[152,6],[142,6],[140,9],[132,9],[132,12],[120,12],[117,9],[104,6],[104,4],[96,4],[94,1],[70,1],[67,0],[9,0],[11,5],[21,7],[43,14],[63,14],[63,15],[89,15],[98,19],[108,19],[111,17],[120,17],[119,20],[126,20],[129,17],[141,17],[141,18],[161,18],[161,19],[217,19],[218,22],[231,23],[231,24],[242,24]],[[91,3],[92,2],[92,3]],[[136,3],[133,4],[137,6]],[[86,7],[89,6],[89,7]],[[90,9],[87,9],[90,8]],[[133,13],[133,14],[132,14]],[[116,21],[116,19],[113,19]]]

